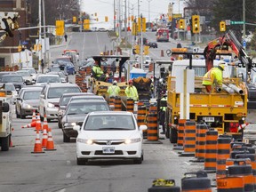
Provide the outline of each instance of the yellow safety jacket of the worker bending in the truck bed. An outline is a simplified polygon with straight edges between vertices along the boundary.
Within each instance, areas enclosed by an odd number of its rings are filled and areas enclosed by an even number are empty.
[[[203,85],[212,85],[213,83],[222,86],[222,71],[220,68],[212,68],[203,77]]]

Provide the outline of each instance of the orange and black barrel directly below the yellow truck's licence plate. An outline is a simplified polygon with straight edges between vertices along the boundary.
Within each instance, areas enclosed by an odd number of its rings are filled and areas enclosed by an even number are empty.
[[[218,131],[210,128],[205,136],[204,170],[216,170]]]

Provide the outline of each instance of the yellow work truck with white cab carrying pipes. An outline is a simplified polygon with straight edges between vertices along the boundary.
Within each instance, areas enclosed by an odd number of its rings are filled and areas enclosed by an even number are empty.
[[[172,73],[167,80],[166,127],[170,141],[172,143],[177,141],[180,108],[183,108],[180,106],[180,92],[177,92],[178,87],[176,87],[178,71],[188,68],[195,71],[193,82],[186,83],[188,87],[194,86],[194,92],[189,93],[188,118],[196,123],[204,122],[220,134],[226,132],[236,139],[241,139],[243,132],[239,131],[239,127],[245,123],[247,116],[247,89],[244,81],[238,77],[230,78],[226,63],[222,89],[213,89],[209,93],[202,85],[203,76],[206,73],[205,60],[194,60],[189,56],[188,58],[190,59],[173,61]],[[212,60],[212,67],[217,67],[219,62],[220,60]]]

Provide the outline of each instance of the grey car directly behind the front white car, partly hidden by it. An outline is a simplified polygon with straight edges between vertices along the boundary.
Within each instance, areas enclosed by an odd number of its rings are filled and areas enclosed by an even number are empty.
[[[109,111],[108,102],[106,100],[79,100],[68,104],[61,119],[63,142],[69,142],[71,137],[77,137],[73,126],[82,125],[85,116],[92,111]]]

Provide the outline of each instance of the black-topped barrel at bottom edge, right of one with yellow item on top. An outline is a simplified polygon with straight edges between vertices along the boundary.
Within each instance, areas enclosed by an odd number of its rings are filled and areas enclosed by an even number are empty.
[[[207,173],[203,171],[186,172],[185,177],[181,179],[181,191],[212,192],[211,180],[207,178]]]

